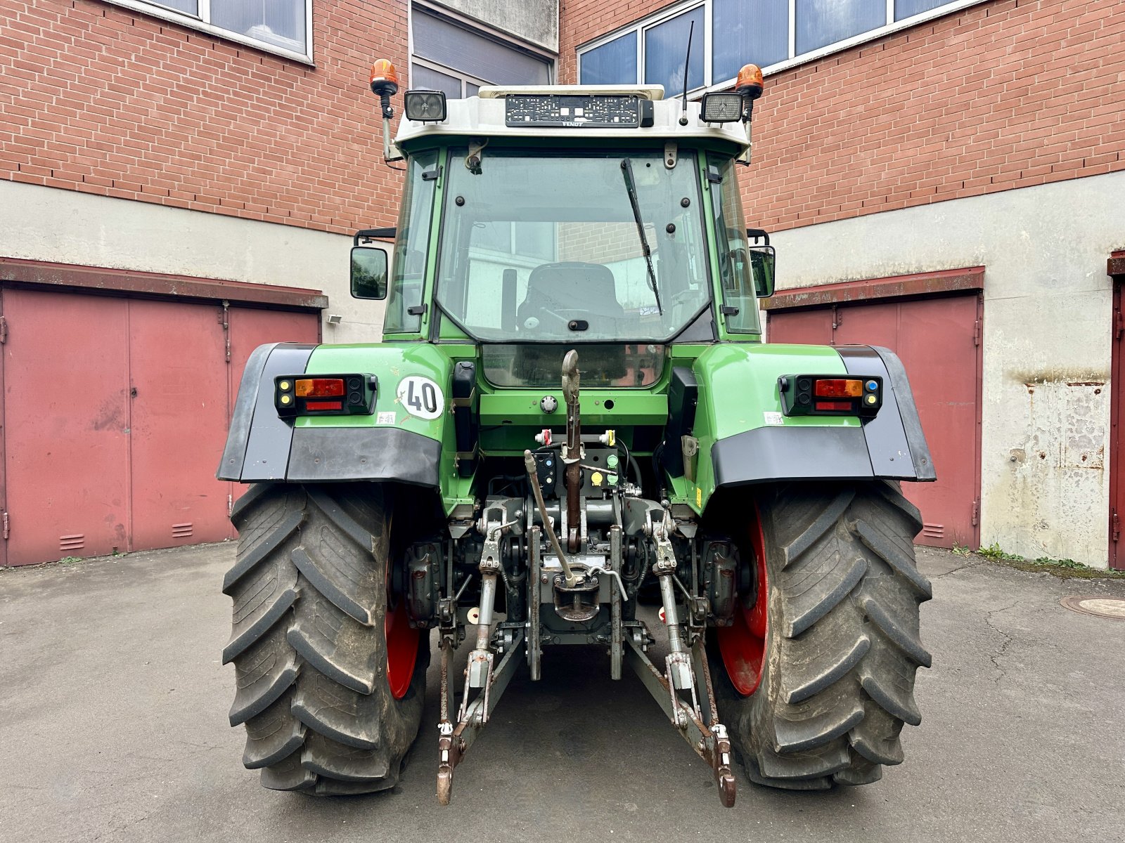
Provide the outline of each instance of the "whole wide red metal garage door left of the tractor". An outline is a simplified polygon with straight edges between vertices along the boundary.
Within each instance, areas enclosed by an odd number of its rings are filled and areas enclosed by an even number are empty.
[[[260,343],[317,342],[318,314],[38,289],[0,301],[0,562],[232,536],[237,490],[215,469],[242,369]]]

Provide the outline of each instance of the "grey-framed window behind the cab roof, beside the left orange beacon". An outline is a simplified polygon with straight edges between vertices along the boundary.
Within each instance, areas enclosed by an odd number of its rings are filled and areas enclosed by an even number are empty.
[[[551,83],[548,55],[418,3],[411,9],[411,88],[460,99],[475,96],[480,85]]]

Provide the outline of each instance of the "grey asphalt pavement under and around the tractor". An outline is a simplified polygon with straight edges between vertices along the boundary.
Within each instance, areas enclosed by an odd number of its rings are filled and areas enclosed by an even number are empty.
[[[922,724],[882,781],[755,787],[710,770],[640,681],[548,650],[434,798],[438,677],[400,785],[266,790],[227,725],[231,544],[0,570],[0,841],[1116,841],[1125,839],[1125,620],[1064,609],[1125,580],[1059,580],[919,549],[934,583]],[[464,651],[467,647],[462,647]]]

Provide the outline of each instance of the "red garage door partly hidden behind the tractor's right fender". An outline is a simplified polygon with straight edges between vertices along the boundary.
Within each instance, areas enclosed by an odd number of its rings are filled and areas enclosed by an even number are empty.
[[[973,291],[914,299],[854,298],[857,290],[876,296],[896,292],[902,283],[902,279],[889,279],[886,285],[832,285],[821,297],[827,293],[840,300],[827,307],[773,309],[799,300],[799,293],[786,291],[771,302],[768,341],[881,345],[902,359],[937,471],[937,482],[903,483],[903,492],[922,515],[925,526],[917,541],[935,547],[975,549],[980,543],[981,297]]]

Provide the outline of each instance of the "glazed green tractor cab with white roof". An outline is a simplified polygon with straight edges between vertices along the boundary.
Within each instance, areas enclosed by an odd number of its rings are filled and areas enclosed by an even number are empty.
[[[773,253],[738,197],[742,98],[711,97],[685,111],[658,87],[407,92],[386,339],[478,344],[497,387],[554,384],[572,346],[600,346],[593,382],[647,387],[669,344],[757,342]]]

